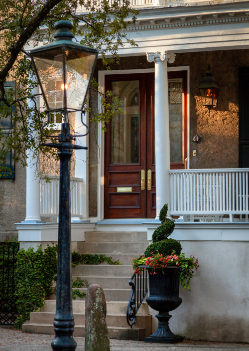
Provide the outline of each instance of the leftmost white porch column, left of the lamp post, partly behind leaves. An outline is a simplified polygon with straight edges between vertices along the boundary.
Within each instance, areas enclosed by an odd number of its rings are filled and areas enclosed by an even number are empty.
[[[33,80],[36,78],[33,77]],[[39,87],[32,90],[31,94],[39,94]],[[30,108],[34,107],[33,100],[28,100]],[[36,106],[39,106],[39,98],[36,99]],[[31,119],[31,116],[27,116]],[[37,131],[32,132],[33,137],[36,136]],[[32,149],[27,150],[27,168],[26,168],[26,218],[25,222],[37,223],[41,222],[40,217],[40,177],[37,176],[39,172],[39,160]]]

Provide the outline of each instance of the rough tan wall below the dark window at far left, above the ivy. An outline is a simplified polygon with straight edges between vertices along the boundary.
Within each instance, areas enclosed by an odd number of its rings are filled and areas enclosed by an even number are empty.
[[[26,170],[15,164],[15,179],[0,179],[0,231],[16,231],[26,216]]]

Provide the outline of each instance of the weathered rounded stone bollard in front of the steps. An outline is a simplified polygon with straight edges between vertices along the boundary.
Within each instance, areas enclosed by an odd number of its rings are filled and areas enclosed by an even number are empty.
[[[87,289],[85,314],[85,351],[110,351],[106,298],[98,284]]]

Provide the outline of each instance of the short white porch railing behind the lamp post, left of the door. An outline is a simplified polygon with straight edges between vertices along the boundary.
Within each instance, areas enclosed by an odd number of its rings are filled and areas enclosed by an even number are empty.
[[[40,215],[58,216],[59,215],[59,177],[49,176],[50,182],[46,183],[45,176],[40,180]],[[78,217],[82,215],[81,205],[81,186],[82,178],[71,177],[71,215]]]

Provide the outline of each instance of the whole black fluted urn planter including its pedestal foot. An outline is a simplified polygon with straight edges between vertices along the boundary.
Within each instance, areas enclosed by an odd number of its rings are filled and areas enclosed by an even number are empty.
[[[149,273],[152,269],[146,267]],[[182,337],[174,335],[169,329],[169,319],[172,317],[169,311],[175,310],[181,305],[182,299],[179,297],[179,284],[181,268],[169,266],[155,270],[156,274],[149,274],[149,297],[147,304],[156,311],[158,327],[154,334],[145,338],[146,343],[173,344],[182,341]]]

